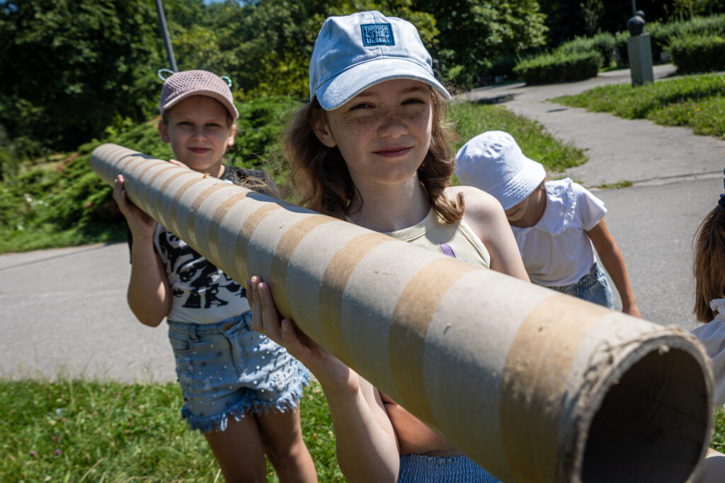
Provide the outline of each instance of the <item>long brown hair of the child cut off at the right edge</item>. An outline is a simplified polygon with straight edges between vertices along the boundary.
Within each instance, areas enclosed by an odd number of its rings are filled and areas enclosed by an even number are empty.
[[[695,232],[695,316],[710,322],[710,301],[725,297],[725,208],[716,206]]]

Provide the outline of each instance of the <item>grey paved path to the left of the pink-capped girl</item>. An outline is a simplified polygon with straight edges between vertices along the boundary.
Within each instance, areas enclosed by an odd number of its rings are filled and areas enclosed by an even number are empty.
[[[0,377],[175,380],[165,325],[125,301],[125,243],[0,255]]]

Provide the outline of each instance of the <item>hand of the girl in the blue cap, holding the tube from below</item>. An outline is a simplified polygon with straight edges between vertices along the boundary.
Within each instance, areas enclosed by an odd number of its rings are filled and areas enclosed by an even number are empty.
[[[268,283],[254,276],[247,280],[247,301],[252,308],[252,328],[286,348],[320,382],[326,395],[357,394],[360,379],[355,371],[307,337],[289,319],[281,319]]]

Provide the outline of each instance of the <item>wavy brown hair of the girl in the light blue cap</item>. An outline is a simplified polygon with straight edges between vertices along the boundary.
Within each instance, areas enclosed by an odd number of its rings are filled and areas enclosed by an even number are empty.
[[[447,102],[433,89],[431,104],[431,146],[418,167],[418,179],[439,217],[447,223],[455,223],[463,217],[463,196],[459,194],[452,201],[445,196],[444,190],[450,185],[455,171],[455,156],[450,142],[456,140],[457,135],[452,122],[446,117]],[[301,191],[300,203],[320,213],[344,219],[357,188],[337,146],[328,148],[315,135],[312,126],[320,122],[323,115],[317,98],[302,106],[283,135],[283,153],[291,166],[292,180]]]

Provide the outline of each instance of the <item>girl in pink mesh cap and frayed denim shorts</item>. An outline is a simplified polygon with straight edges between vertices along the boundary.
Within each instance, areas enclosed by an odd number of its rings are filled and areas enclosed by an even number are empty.
[[[222,164],[239,117],[222,77],[203,70],[167,77],[160,111],[159,134],[181,164],[276,192],[265,172]],[[204,434],[224,478],[265,482],[266,453],[281,482],[316,482],[297,406],[307,369],[252,330],[245,287],[128,201],[122,175],[113,197],[132,237],[128,305],[151,327],[167,317],[182,416]]]

